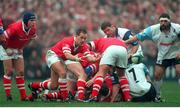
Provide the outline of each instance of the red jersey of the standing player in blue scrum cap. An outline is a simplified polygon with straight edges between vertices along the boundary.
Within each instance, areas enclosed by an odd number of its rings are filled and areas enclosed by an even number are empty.
[[[7,47],[14,49],[24,48],[32,38],[37,36],[36,31],[37,29],[34,27],[26,32],[22,21],[17,21],[9,25],[4,32],[7,38]]]

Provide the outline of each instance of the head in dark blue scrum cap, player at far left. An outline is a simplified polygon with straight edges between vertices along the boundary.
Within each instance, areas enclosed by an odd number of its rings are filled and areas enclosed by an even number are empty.
[[[23,15],[23,22],[28,28],[36,25],[36,19],[36,15],[33,12],[25,12]]]

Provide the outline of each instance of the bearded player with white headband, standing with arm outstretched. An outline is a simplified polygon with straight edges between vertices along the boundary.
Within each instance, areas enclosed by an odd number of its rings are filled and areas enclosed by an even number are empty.
[[[170,16],[167,13],[162,13],[159,17],[159,24],[147,27],[137,36],[129,39],[126,43],[131,43],[137,40],[150,39],[156,42],[158,48],[157,61],[155,65],[155,81],[157,102],[163,102],[164,99],[160,95],[160,86],[162,85],[162,77],[165,70],[169,66],[175,66],[177,76],[180,78],[180,25],[171,22]]]

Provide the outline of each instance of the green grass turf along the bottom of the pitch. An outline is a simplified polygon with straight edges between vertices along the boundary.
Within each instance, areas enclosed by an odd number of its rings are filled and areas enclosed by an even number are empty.
[[[27,87],[26,87],[27,88]],[[134,102],[116,102],[116,103],[82,103],[82,102],[42,102],[40,100],[35,102],[21,102],[19,99],[19,92],[13,82],[12,96],[13,101],[7,102],[2,80],[0,82],[0,107],[180,107],[180,85],[177,82],[164,82],[162,86],[163,97],[166,99],[164,103],[134,103]],[[30,93],[27,88],[27,92]]]

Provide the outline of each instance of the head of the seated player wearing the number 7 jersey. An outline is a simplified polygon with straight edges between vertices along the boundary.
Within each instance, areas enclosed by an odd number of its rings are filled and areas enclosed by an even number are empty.
[[[131,62],[134,63],[134,64],[139,64],[143,61],[143,55],[142,54],[134,54],[132,57],[131,57]]]

